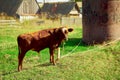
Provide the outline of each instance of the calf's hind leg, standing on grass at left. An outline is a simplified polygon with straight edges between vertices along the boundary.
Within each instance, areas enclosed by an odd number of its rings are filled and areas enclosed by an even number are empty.
[[[19,55],[18,55],[18,71],[21,71],[22,70],[22,61],[23,61],[23,58],[25,56],[27,51],[25,50],[19,50]]]

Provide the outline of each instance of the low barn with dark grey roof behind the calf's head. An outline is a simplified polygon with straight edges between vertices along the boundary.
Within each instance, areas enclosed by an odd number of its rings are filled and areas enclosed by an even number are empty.
[[[45,3],[41,9],[41,13],[49,15],[76,15],[79,16],[79,6],[76,2],[58,2]]]

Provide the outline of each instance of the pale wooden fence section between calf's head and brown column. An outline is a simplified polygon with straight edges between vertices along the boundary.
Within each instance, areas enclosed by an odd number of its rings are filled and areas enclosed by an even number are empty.
[[[80,25],[82,24],[82,18],[79,17],[62,17],[60,20],[61,25]]]

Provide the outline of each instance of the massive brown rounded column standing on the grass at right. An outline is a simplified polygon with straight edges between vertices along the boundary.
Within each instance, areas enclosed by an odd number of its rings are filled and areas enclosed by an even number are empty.
[[[83,41],[101,43],[120,38],[120,1],[83,0]]]

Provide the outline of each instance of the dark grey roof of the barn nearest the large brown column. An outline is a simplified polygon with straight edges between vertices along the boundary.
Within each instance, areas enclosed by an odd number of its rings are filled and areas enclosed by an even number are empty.
[[[79,7],[75,2],[59,2],[59,3],[45,3],[41,9],[41,12],[52,13],[52,9],[56,7],[56,14],[67,15],[70,11],[75,8],[79,13]]]

